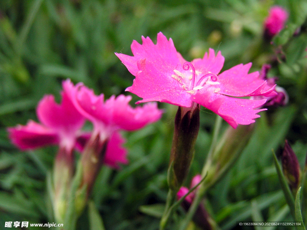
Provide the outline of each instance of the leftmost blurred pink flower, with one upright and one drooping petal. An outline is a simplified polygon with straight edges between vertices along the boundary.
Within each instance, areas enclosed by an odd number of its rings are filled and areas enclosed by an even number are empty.
[[[59,144],[71,153],[77,137],[81,135],[85,118],[75,109],[67,94],[62,92],[60,105],[52,95],[45,95],[38,103],[36,112],[42,124],[29,121],[27,125],[8,128],[11,141],[21,150]]]

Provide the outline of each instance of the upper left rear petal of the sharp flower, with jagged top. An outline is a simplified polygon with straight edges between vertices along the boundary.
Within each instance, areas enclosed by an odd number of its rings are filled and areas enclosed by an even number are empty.
[[[132,75],[136,76],[138,74],[137,62],[140,59],[146,58],[148,61],[155,63],[157,70],[163,74],[170,73],[180,65],[177,51],[171,38],[167,40],[160,32],[157,35],[156,45],[153,44],[149,37],[142,36],[142,42],[142,45],[135,40],[132,42],[131,51],[134,56],[115,53]]]

